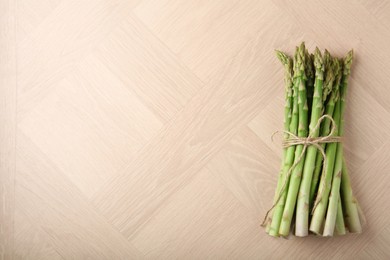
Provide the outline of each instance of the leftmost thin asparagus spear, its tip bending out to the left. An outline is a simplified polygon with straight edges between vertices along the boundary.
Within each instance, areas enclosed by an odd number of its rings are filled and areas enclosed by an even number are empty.
[[[293,95],[292,94],[292,92],[293,92],[293,83],[292,83],[293,61],[287,54],[285,54],[281,51],[276,51],[276,56],[278,57],[280,62],[283,64],[284,69],[285,69],[285,76],[284,76],[284,82],[285,82],[284,130],[290,131],[290,122],[291,122],[291,114],[292,114],[292,101],[293,101],[293,97],[292,97],[292,95]],[[284,138],[287,139],[288,135],[285,134]],[[280,170],[280,174],[279,174],[278,184],[276,186],[276,191],[275,191],[273,203],[276,203],[276,200],[278,199],[278,196],[279,196],[281,186],[283,185],[283,180],[284,180],[283,164],[284,164],[284,161],[286,160],[286,156],[287,156],[287,148],[284,148],[283,149],[282,166],[281,166],[281,170]],[[268,221],[267,226],[266,226],[267,233],[269,233],[270,228],[271,228],[271,223],[270,223],[270,221]]]

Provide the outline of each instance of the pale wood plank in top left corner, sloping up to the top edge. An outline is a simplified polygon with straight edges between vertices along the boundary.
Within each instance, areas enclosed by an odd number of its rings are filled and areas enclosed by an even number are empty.
[[[135,2],[62,1],[18,42],[20,118],[45,97],[52,84],[70,74],[75,64],[100,45]]]

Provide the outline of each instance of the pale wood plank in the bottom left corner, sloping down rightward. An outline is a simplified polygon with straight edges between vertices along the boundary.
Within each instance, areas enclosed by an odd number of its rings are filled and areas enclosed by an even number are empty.
[[[31,140],[22,133],[18,140],[16,207],[55,251],[65,259],[142,258]]]

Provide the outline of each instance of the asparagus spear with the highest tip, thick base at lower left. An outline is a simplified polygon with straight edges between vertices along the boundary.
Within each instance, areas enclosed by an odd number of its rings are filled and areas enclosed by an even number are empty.
[[[305,44],[302,43],[298,49],[297,64],[294,65],[294,77],[298,79],[298,113],[299,113],[299,126],[298,136],[307,137],[308,126],[308,106],[306,99],[306,75],[305,75]],[[297,145],[295,149],[295,161],[297,163],[290,177],[290,184],[288,188],[288,194],[286,198],[286,204],[283,210],[283,218],[279,228],[279,234],[282,236],[288,236],[290,233],[291,221],[293,218],[295,203],[297,200],[299,185],[301,183],[302,169],[304,165],[305,155],[302,154],[303,145]],[[298,160],[300,161],[298,162]]]

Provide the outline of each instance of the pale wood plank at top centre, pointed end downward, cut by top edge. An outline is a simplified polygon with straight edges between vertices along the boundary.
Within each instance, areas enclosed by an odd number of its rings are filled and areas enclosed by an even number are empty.
[[[144,0],[134,12],[205,83],[218,77],[248,40],[274,28],[275,17],[286,21],[268,0]],[[281,30],[275,34],[285,33]],[[289,41],[297,36],[291,34]]]

